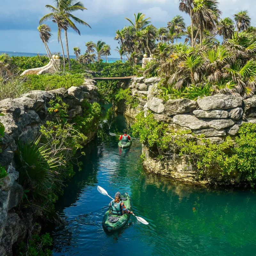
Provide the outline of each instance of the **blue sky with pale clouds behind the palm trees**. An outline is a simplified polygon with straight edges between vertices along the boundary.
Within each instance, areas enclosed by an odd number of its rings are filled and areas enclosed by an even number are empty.
[[[49,11],[45,4],[53,4],[52,0],[0,0],[0,51],[16,52],[40,52],[45,53],[44,45],[36,30],[40,18]],[[248,10],[252,25],[256,25],[254,18],[255,0],[220,0],[220,9],[223,17],[232,17],[240,10]],[[116,29],[128,25],[124,17],[134,19],[133,13],[143,12],[151,17],[152,24],[156,27],[166,26],[167,21],[173,16],[180,14],[178,0],[81,0],[88,9],[84,12],[75,13],[77,17],[86,21],[92,29],[79,27],[81,36],[68,31],[69,51],[73,54],[72,48],[79,46],[82,52],[85,51],[85,42],[97,42],[102,39],[111,46],[110,57],[118,57],[113,51],[118,45],[114,41]],[[183,15],[187,24],[189,16]],[[60,44],[57,42],[56,25],[49,21],[52,28],[52,38],[49,47],[52,52],[60,51]],[[64,41],[64,40],[63,40]]]

